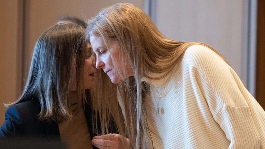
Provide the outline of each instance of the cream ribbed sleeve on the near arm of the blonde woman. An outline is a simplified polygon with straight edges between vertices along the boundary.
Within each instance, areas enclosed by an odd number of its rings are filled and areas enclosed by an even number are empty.
[[[257,131],[249,107],[249,103],[256,100],[242,89],[244,86],[234,70],[218,54],[202,45],[188,48],[185,57],[200,74],[196,77],[201,82],[196,83],[214,120],[230,140],[229,148],[260,148],[261,133]],[[264,110],[261,112],[264,115]]]

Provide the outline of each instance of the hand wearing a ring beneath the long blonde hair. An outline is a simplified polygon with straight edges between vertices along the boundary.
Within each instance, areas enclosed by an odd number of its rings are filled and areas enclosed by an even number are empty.
[[[116,133],[109,133],[102,136],[94,136],[92,144],[99,149],[124,149],[125,146],[122,142],[122,135]],[[130,146],[130,140],[125,138],[126,145]]]

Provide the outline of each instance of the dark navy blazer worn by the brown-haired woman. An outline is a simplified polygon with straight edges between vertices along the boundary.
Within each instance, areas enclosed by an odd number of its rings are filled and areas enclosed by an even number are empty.
[[[0,140],[4,138],[40,138],[60,142],[60,133],[57,121],[42,122],[38,120],[41,107],[37,98],[8,107],[5,112],[5,121],[0,127]],[[91,139],[97,134],[93,130],[92,109],[85,105],[85,116]],[[115,125],[111,126],[110,133],[117,133]],[[0,142],[1,143],[1,142]],[[93,146],[93,148],[96,148]]]

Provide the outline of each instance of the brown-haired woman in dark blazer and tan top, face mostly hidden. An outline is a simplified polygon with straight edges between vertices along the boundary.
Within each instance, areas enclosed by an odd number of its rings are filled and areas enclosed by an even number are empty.
[[[62,141],[68,148],[96,148],[91,109],[95,59],[81,25],[54,25],[37,40],[22,95],[6,104],[0,139]],[[113,128],[113,129],[112,129]],[[112,125],[110,132],[116,132]]]

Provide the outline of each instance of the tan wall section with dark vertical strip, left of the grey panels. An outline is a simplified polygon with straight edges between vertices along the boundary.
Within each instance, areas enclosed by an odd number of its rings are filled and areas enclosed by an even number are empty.
[[[53,25],[58,16],[67,14],[88,20],[114,3],[133,3],[143,8],[143,0],[25,0],[24,4],[20,0],[1,0],[0,125],[6,110],[2,103],[16,100],[21,93],[32,49],[40,34]]]

